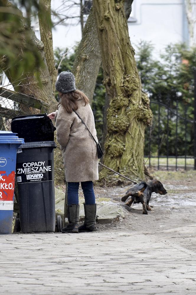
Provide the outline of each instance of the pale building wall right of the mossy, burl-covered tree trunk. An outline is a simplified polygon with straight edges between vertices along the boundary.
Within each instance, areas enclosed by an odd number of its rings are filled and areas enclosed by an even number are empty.
[[[134,44],[145,40],[155,45],[158,54],[166,45],[188,40],[188,27],[182,0],[136,0],[128,23],[130,40]]]

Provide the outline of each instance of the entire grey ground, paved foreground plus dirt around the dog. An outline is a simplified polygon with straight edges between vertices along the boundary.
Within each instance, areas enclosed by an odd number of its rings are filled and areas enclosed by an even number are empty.
[[[95,187],[125,215],[96,233],[0,236],[0,294],[196,294],[196,184],[164,184],[148,215],[120,201],[130,186]]]

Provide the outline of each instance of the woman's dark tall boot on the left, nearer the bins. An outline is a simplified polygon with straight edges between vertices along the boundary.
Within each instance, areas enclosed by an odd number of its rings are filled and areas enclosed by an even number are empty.
[[[67,205],[69,224],[62,228],[61,233],[78,233],[78,221],[80,206],[76,204]]]

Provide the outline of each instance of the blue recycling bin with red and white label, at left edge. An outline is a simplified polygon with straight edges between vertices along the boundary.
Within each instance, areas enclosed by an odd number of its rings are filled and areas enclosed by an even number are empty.
[[[17,148],[24,143],[11,131],[0,131],[0,234],[12,233]]]

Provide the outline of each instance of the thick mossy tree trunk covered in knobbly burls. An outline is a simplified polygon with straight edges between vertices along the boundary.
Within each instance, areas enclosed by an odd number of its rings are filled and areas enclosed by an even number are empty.
[[[152,113],[148,97],[141,90],[123,9],[124,1],[97,0],[93,1],[93,5],[104,85],[110,100],[104,164],[122,174],[142,179],[144,131],[145,126],[150,124]],[[107,176],[108,170],[103,169],[100,179]]]

